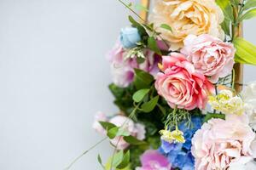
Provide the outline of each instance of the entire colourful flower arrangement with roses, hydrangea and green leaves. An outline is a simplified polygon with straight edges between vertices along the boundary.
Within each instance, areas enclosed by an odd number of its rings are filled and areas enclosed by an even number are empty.
[[[256,65],[239,34],[256,1],[155,0],[148,22],[134,9],[146,7],[119,2],[139,21],[129,16],[108,53],[120,111],[96,114],[113,146],[102,169],[256,169],[256,82],[240,92],[234,69]]]

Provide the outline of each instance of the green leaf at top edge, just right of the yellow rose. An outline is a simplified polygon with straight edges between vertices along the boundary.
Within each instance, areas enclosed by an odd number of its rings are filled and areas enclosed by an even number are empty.
[[[223,10],[225,18],[234,22],[233,8],[230,0],[216,0],[216,3]]]

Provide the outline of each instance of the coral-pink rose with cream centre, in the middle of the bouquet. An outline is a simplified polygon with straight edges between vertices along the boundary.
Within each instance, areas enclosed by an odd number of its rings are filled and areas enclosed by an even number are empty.
[[[175,108],[193,110],[203,109],[208,94],[214,93],[214,87],[207,77],[195,72],[183,54],[172,53],[163,56],[162,68],[156,77],[155,88],[168,104]]]

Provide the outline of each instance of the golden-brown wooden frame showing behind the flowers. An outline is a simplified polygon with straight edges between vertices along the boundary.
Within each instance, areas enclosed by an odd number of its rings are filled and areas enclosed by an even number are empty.
[[[150,5],[150,0],[141,0],[141,4],[144,7],[149,8]],[[235,10],[235,16],[237,11]],[[142,17],[143,20],[148,20],[148,12],[147,11],[142,11],[140,13],[140,16]],[[240,24],[240,26],[236,27],[236,37],[243,37],[243,33],[242,33],[242,24]],[[239,93],[242,90],[243,87],[243,65],[241,64],[235,64],[234,65],[234,71],[235,71],[235,89],[236,92]]]

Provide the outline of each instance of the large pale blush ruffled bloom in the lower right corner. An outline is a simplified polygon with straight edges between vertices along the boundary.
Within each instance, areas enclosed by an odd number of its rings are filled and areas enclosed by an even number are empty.
[[[236,162],[251,160],[254,138],[246,115],[226,115],[226,120],[211,119],[192,139],[195,169],[227,169]]]

